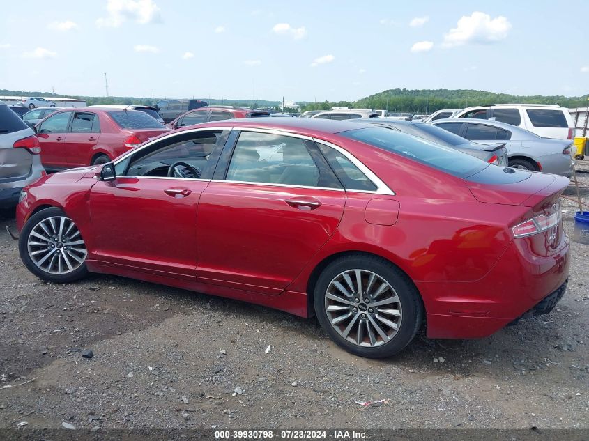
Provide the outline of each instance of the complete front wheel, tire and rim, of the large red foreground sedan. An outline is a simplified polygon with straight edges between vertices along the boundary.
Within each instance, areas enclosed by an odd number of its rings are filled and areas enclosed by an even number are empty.
[[[88,273],[84,239],[60,208],[46,208],[31,216],[21,231],[18,248],[26,268],[40,279],[63,284]]]

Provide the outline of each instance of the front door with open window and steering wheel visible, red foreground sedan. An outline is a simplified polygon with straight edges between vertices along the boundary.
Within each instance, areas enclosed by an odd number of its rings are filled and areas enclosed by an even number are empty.
[[[116,178],[90,194],[100,265],[194,281],[197,208],[227,130],[187,130],[118,158]],[[87,240],[86,240],[87,241]]]

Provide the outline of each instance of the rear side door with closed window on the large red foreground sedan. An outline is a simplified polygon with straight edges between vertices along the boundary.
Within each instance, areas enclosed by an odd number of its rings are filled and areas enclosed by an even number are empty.
[[[335,233],[345,203],[312,140],[234,130],[199,204],[197,279],[280,294]]]

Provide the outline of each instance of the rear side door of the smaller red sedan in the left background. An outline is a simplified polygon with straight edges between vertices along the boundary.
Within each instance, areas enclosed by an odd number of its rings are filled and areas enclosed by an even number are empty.
[[[100,118],[90,111],[76,111],[66,134],[71,167],[91,165],[94,149],[100,138]]]

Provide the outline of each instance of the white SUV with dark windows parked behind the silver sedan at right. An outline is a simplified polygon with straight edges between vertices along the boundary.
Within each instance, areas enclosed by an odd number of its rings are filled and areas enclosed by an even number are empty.
[[[529,130],[543,138],[572,139],[574,132],[569,109],[557,105],[497,104],[467,107],[451,118],[499,121]]]

